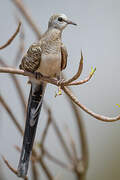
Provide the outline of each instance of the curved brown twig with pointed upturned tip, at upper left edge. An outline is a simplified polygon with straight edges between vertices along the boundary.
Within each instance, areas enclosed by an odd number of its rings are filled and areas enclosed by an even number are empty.
[[[10,37],[10,39],[9,39],[4,45],[0,46],[0,49],[4,49],[4,48],[6,48],[8,45],[11,44],[11,42],[15,39],[15,37],[17,36],[17,34],[18,34],[18,32],[19,32],[20,26],[21,26],[21,22],[19,22],[18,27],[17,27],[15,33]]]

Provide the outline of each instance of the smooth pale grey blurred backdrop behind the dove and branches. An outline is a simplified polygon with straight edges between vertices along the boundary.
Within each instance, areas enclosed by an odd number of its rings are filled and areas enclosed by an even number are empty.
[[[47,29],[49,17],[54,13],[64,13],[71,20],[78,23],[77,27],[69,26],[63,32],[63,42],[68,50],[68,65],[64,71],[67,78],[77,71],[80,52],[84,56],[84,69],[81,79],[84,79],[91,67],[96,67],[93,78],[86,84],[72,87],[79,101],[96,113],[106,116],[116,116],[120,113],[120,1],[119,0],[76,0],[76,1],[23,1],[28,8],[41,32]],[[1,1],[0,5],[0,45],[4,44],[17,27],[15,16],[22,21],[25,32],[25,51],[36,41],[36,36],[21,16],[12,0]],[[13,66],[16,52],[19,47],[19,35],[10,46],[0,51],[2,57],[9,66]],[[24,51],[24,52],[25,52]],[[19,63],[18,63],[19,65]],[[17,65],[17,67],[18,67]],[[26,77],[18,76],[26,97],[29,95],[30,86]],[[68,124],[72,136],[79,151],[79,140],[76,132],[76,124],[70,105],[64,93],[54,98],[57,87],[48,85],[45,93],[45,101],[51,106],[53,116],[59,125],[62,134],[67,139],[65,123]],[[0,93],[12,108],[18,121],[23,124],[24,117],[16,93],[14,83],[9,75],[0,75]],[[89,147],[89,168],[87,179],[89,180],[118,180],[120,179],[120,122],[100,122],[81,110],[85,124],[85,130]],[[45,127],[46,114],[42,109],[37,129],[36,139],[41,137]],[[9,115],[0,106],[0,154],[17,168],[19,153],[14,145],[22,145],[22,137],[11,122]],[[64,152],[50,127],[47,136],[46,147],[60,159],[64,159]],[[49,162],[48,162],[49,163]],[[9,171],[0,158],[0,168],[4,178],[0,180],[18,178]],[[75,177],[68,171],[49,163],[54,175],[60,175],[62,180],[74,180]],[[44,174],[42,179],[46,179]],[[2,176],[1,176],[2,177]]]

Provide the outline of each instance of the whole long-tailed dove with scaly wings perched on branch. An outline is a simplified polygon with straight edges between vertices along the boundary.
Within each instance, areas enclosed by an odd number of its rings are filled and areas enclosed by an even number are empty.
[[[62,43],[62,32],[67,25],[77,25],[65,14],[54,14],[50,17],[47,31],[37,43],[33,43],[21,60],[19,68],[35,73],[36,78],[29,78],[31,84],[22,151],[17,169],[18,177],[27,175],[29,160],[35,139],[36,128],[42,107],[47,83],[38,79],[37,75],[61,80],[61,71],[67,65],[67,49]]]

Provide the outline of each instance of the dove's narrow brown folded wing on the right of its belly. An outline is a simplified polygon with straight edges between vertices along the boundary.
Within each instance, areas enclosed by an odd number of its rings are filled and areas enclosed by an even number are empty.
[[[62,44],[62,46],[61,46],[61,70],[65,69],[67,66],[67,57],[68,57],[67,49],[64,46],[64,44]]]

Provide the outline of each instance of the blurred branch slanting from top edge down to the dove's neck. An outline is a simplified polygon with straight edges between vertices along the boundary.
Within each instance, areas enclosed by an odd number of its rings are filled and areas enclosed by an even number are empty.
[[[23,2],[21,0],[12,0],[12,1],[17,6],[17,8],[20,10],[22,15],[25,17],[25,19],[27,20],[27,22],[31,26],[32,30],[35,32],[38,39],[40,39],[41,33],[38,30],[39,28],[36,26],[36,24],[32,20],[31,15],[29,14],[29,12],[28,12],[27,8],[25,7],[25,5],[23,4]]]

